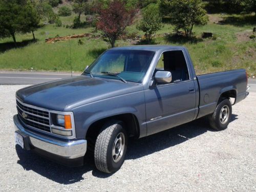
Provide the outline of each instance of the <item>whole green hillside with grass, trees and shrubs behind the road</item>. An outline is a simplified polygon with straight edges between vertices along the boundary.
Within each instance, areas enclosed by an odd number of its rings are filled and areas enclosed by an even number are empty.
[[[81,72],[108,48],[153,44],[187,47],[198,74],[245,68],[256,76],[255,2],[0,0],[0,69],[70,71],[72,63]]]

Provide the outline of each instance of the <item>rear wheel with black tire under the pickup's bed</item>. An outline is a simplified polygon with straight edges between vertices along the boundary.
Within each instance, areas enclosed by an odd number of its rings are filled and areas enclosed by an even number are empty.
[[[225,116],[225,111],[226,111],[226,116]],[[211,128],[217,131],[222,131],[227,129],[227,125],[230,122],[231,116],[232,116],[232,105],[230,103],[230,100],[225,98],[221,102],[219,102],[214,113],[209,115],[209,123]]]

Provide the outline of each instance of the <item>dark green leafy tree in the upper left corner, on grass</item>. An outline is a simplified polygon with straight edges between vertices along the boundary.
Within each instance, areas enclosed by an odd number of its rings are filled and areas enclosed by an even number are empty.
[[[0,12],[0,36],[11,36],[15,44],[15,33],[33,33],[39,27],[36,11],[25,0],[1,0]],[[34,33],[33,38],[35,39]]]

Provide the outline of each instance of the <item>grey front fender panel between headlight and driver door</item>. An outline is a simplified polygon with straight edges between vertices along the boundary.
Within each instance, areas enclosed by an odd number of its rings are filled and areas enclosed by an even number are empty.
[[[84,138],[94,122],[121,114],[135,115],[139,123],[140,137],[146,135],[145,97],[144,92],[140,91],[102,99],[76,108],[74,118],[77,139]]]

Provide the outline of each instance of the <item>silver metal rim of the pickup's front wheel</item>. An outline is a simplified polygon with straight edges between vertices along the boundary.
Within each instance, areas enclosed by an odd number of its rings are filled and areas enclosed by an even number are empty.
[[[113,150],[112,150],[112,157],[114,162],[118,162],[122,158],[123,151],[124,151],[124,144],[125,144],[124,139],[125,138],[123,133],[119,133],[116,136],[116,139],[113,144]]]

